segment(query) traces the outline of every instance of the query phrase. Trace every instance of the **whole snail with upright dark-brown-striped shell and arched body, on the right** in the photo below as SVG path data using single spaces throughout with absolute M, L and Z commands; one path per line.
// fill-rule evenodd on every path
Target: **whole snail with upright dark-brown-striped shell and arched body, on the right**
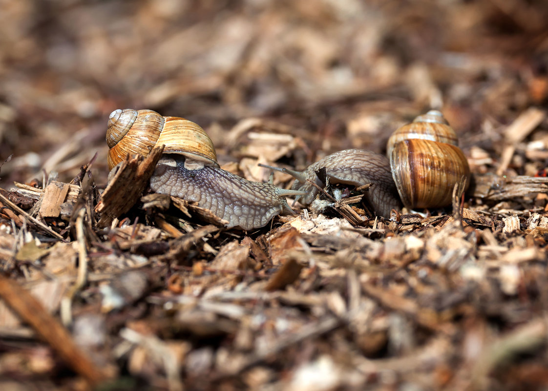
M 326 168 L 330 183 L 356 187 L 374 183 L 364 197 L 384 217 L 399 208 L 400 199 L 408 209 L 447 206 L 455 183 L 462 176 L 467 184 L 470 180 L 468 161 L 457 146 L 455 131 L 437 110 L 430 110 L 397 129 L 387 142 L 387 156 L 390 160 L 366 149 L 345 149 L 318 160 L 304 171 L 267 167 L 295 178 L 292 189 L 306 193 L 295 197 L 304 205 L 312 203 L 318 193 L 307 179 L 322 186 L 315 174 L 322 167 Z

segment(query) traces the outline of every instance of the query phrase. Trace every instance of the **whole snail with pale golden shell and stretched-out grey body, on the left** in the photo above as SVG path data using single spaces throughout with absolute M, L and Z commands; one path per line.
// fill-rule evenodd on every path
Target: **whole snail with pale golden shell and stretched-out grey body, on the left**
M 273 216 L 293 214 L 285 197 L 305 194 L 222 170 L 212 140 L 185 118 L 162 117 L 152 110 L 118 109 L 110 114 L 106 141 L 109 169 L 128 153 L 146 156 L 152 147 L 164 145 L 150 179 L 152 190 L 197 202 L 228 221 L 228 228 L 258 228 Z

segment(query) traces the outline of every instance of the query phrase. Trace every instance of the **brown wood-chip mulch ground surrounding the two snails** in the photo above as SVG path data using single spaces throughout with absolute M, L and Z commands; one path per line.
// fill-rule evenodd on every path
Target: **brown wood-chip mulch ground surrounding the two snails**
M 1 389 L 546 389 L 546 2 L 0 4 Z M 150 191 L 161 151 L 107 182 L 129 107 L 254 181 L 440 108 L 472 184 L 226 229 Z

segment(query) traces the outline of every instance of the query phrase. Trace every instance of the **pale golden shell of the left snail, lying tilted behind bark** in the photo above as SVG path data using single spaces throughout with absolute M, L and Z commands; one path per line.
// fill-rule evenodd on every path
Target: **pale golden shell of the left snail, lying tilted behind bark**
M 198 124 L 180 117 L 162 117 L 152 110 L 115 110 L 110 114 L 106 135 L 109 169 L 125 156 L 146 156 L 164 145 L 164 153 L 185 156 L 187 169 L 219 167 L 213 142 Z

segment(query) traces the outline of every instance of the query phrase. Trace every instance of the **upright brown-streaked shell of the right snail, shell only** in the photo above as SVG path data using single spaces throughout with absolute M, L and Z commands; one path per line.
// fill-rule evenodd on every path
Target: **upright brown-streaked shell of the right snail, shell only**
M 455 131 L 442 113 L 431 110 L 390 136 L 387 154 L 392 178 L 407 208 L 437 208 L 451 203 L 453 187 L 470 168 Z

